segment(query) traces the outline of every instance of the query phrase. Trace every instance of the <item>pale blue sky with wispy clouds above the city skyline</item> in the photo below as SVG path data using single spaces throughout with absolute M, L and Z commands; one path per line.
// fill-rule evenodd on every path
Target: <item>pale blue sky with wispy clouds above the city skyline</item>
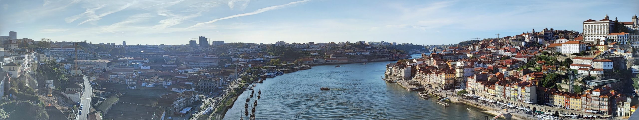
M 185 45 L 389 41 L 440 45 L 582 22 L 630 22 L 639 1 L 0 0 L 0 35 L 91 43 Z M 194 39 L 196 40 L 196 39 Z

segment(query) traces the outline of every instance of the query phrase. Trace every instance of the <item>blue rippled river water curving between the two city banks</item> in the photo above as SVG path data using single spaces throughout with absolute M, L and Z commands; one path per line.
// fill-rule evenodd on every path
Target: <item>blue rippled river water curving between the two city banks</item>
M 420 57 L 419 54 L 412 55 Z M 482 120 L 479 109 L 450 104 L 443 107 L 433 99 L 424 100 L 417 93 L 397 84 L 387 84 L 381 77 L 385 65 L 393 61 L 315 66 L 268 78 L 258 84 L 262 91 L 256 107 L 256 119 L 454 119 Z M 320 87 L 330 87 L 321 91 Z M 244 116 L 244 104 L 250 91 L 240 95 L 224 119 Z M 249 107 L 249 112 L 250 112 Z M 466 110 L 470 108 L 471 110 Z M 246 118 L 245 118 L 246 119 Z

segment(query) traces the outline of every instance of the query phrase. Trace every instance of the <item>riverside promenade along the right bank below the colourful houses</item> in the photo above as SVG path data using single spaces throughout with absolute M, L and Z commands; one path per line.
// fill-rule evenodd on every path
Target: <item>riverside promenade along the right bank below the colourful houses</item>
M 410 84 L 408 82 L 409 80 L 399 80 L 396 83 L 399 84 L 399 86 L 404 87 L 405 89 L 411 88 L 411 87 L 420 87 L 420 86 L 415 86 L 413 84 Z M 539 115 L 539 113 L 535 113 L 533 112 L 532 114 L 527 114 L 525 111 L 523 110 L 518 110 L 518 109 L 504 109 L 504 107 L 500 107 L 498 106 L 498 104 L 496 103 L 482 103 L 480 101 L 477 100 L 466 100 L 464 98 L 461 98 L 459 96 L 457 96 L 457 93 L 455 93 L 454 91 L 450 91 L 450 90 L 444 90 L 444 91 L 437 91 L 431 87 L 427 87 L 424 86 L 426 88 L 426 91 L 429 92 L 429 95 L 431 95 L 433 98 L 439 98 L 439 97 L 444 97 L 444 98 L 449 98 L 445 101 L 449 101 L 450 103 L 454 103 L 457 105 L 468 105 L 470 107 L 475 107 L 477 109 L 482 109 L 484 111 L 484 113 L 486 114 L 491 114 L 493 116 L 497 116 L 499 114 L 511 114 L 512 115 L 512 119 L 518 119 L 518 120 L 537 120 L 537 119 L 541 119 L 539 117 L 536 117 L 537 115 Z M 504 118 L 505 117 L 501 117 Z M 562 118 L 562 119 L 571 119 L 571 118 Z M 583 119 L 583 118 L 581 118 Z M 618 117 L 617 119 L 620 119 L 620 117 Z M 603 120 L 603 119 L 602 119 Z

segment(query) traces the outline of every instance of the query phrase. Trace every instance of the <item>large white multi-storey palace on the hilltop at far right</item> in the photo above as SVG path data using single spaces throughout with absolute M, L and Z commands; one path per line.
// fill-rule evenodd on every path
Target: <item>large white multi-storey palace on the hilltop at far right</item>
M 602 36 L 612 33 L 615 28 L 615 21 L 610 20 L 608 15 L 601 20 L 586 20 L 583 22 L 583 41 L 595 41 Z

